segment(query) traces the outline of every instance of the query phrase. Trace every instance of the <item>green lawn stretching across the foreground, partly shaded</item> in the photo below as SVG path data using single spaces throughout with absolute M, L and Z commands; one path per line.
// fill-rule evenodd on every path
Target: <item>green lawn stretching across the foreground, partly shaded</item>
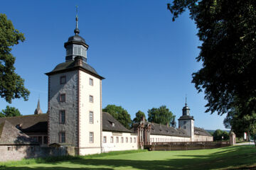
M 103 157 L 76 157 L 73 160 L 60 162 L 18 164 L 19 162 L 17 166 L 3 164 L 0 169 L 256 169 L 256 148 L 254 145 L 242 145 L 193 151 L 155 151 Z

